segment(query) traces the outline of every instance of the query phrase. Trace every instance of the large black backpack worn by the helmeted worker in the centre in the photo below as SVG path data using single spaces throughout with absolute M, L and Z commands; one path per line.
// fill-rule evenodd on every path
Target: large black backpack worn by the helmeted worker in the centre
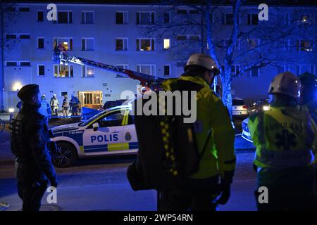
M 193 82 L 177 79 L 172 83 L 170 91 L 198 91 L 204 86 Z M 190 95 L 189 95 L 190 96 Z M 157 98 L 159 99 L 159 98 Z M 138 98 L 142 105 L 147 99 Z M 166 99 L 165 99 L 166 101 Z M 189 101 L 190 103 L 190 101 Z M 159 108 L 159 101 L 157 102 Z M 173 108 L 175 109 L 175 99 Z M 128 180 L 132 188 L 161 190 L 168 186 L 180 184 L 199 169 L 199 162 L 206 150 L 209 133 L 204 148 L 199 153 L 195 139 L 195 123 L 185 123 L 184 115 L 137 115 L 134 113 L 134 122 L 139 142 L 138 159 L 128 169 Z M 133 167 L 133 168 L 132 168 Z M 135 170 L 138 169 L 138 172 Z M 131 179 L 129 171 L 134 171 L 139 179 Z M 143 184 L 133 184 L 133 181 L 142 181 Z M 140 190 L 141 188 L 137 189 Z M 136 190 L 135 190 L 136 191 Z

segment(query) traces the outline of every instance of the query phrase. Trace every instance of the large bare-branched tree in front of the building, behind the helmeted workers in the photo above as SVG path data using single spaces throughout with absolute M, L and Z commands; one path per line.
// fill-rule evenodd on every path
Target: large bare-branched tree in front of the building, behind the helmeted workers
M 161 1 L 156 23 L 142 28 L 142 33 L 157 37 L 176 37 L 169 53 L 174 59 L 184 60 L 191 53 L 209 54 L 220 68 L 223 103 L 232 112 L 232 79 L 267 65 L 290 64 L 302 59 L 299 51 L 309 51 L 305 60 L 316 62 L 313 49 L 316 26 L 299 8 L 288 17 L 285 8 L 275 1 L 269 6 L 268 21 L 259 21 L 259 4 L 246 0 Z M 225 5 L 223 5 L 225 4 Z M 166 15 L 169 21 L 164 21 Z M 307 14 L 309 15 L 309 13 Z M 242 24 L 242 19 L 247 25 Z M 168 23 L 164 23 L 168 22 Z M 224 27 L 224 25 L 226 25 Z M 181 34 L 197 34 L 185 37 Z M 299 40 L 306 41 L 299 41 Z M 309 55 L 309 56 L 308 56 Z M 240 65 L 237 69 L 236 65 Z M 234 68 L 234 70 L 232 70 Z

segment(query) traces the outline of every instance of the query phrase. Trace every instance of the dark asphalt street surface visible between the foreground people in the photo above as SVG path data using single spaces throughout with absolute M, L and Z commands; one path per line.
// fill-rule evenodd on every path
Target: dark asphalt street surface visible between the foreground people
M 239 124 L 236 123 L 236 127 Z M 9 139 L 6 129 L 0 135 L 0 203 L 8 203 L 11 207 L 7 210 L 15 211 L 20 210 L 22 201 L 14 179 Z M 256 210 L 253 146 L 237 134 L 235 149 L 237 169 L 232 195 L 219 210 Z M 42 210 L 156 210 L 156 191 L 133 191 L 126 179 L 126 169 L 135 159 L 135 155 L 85 158 L 78 160 L 75 167 L 56 169 L 59 181 L 57 203 L 49 205 L 46 193 Z

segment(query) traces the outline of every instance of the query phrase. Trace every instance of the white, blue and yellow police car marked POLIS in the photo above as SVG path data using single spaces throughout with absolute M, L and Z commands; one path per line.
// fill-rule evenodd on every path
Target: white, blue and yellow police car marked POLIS
M 120 105 L 102 111 L 85 122 L 52 129 L 58 147 L 52 161 L 70 167 L 77 158 L 137 153 L 138 142 L 131 107 Z

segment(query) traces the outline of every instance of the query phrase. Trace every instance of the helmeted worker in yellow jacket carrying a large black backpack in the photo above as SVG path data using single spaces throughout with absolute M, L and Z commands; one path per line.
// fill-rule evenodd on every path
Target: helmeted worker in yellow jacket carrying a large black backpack
M 230 198 L 230 184 L 235 170 L 235 132 L 223 102 L 210 86 L 218 74 L 216 63 L 209 56 L 193 54 L 178 79 L 167 79 L 162 86 L 171 90 L 181 81 L 188 90 L 197 91 L 196 136 L 201 157 L 199 170 L 184 185 L 161 192 L 161 210 L 216 210 L 215 203 L 225 204 Z M 209 135 L 209 131 L 211 135 Z M 219 183 L 220 178 L 220 183 Z M 217 201 L 217 196 L 220 198 Z

